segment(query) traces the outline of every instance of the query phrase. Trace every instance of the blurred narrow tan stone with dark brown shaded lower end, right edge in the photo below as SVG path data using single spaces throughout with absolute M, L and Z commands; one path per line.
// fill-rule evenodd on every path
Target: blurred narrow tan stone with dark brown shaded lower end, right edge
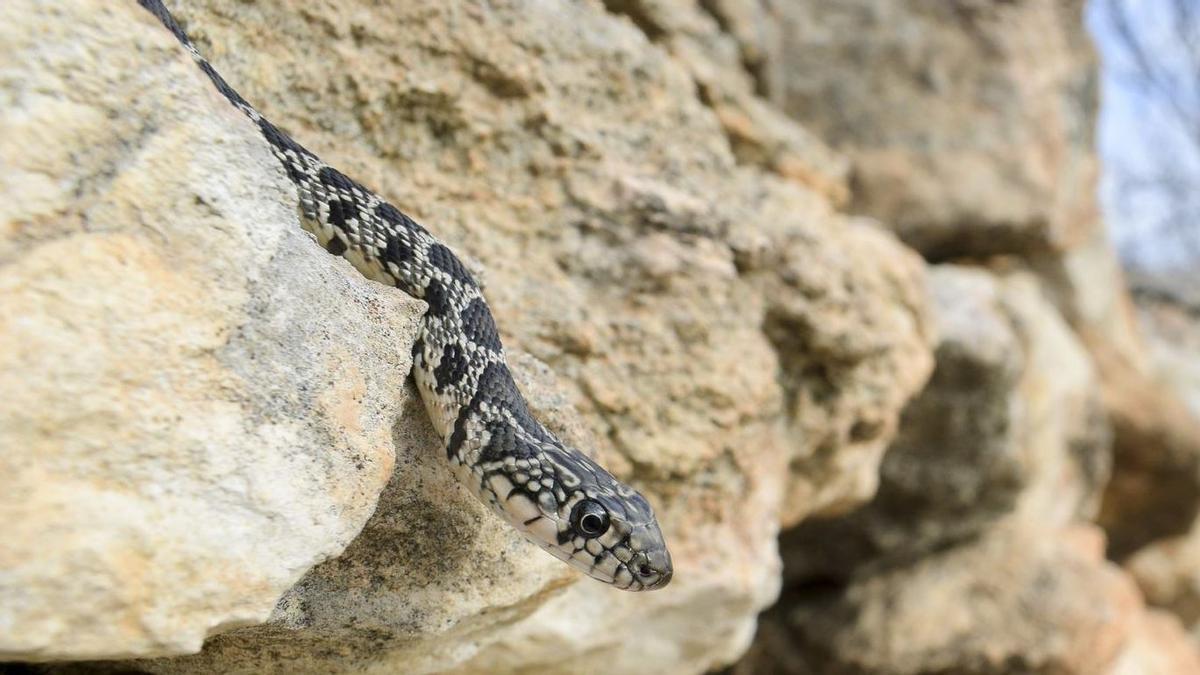
M 1110 556 L 1123 558 L 1157 538 L 1183 534 L 1200 512 L 1200 419 L 1186 392 L 1170 383 L 1187 377 L 1189 357 L 1166 368 L 1154 363 L 1152 325 L 1139 325 L 1104 232 L 1031 263 L 1099 376 L 1114 431 L 1112 480 L 1099 515 Z

